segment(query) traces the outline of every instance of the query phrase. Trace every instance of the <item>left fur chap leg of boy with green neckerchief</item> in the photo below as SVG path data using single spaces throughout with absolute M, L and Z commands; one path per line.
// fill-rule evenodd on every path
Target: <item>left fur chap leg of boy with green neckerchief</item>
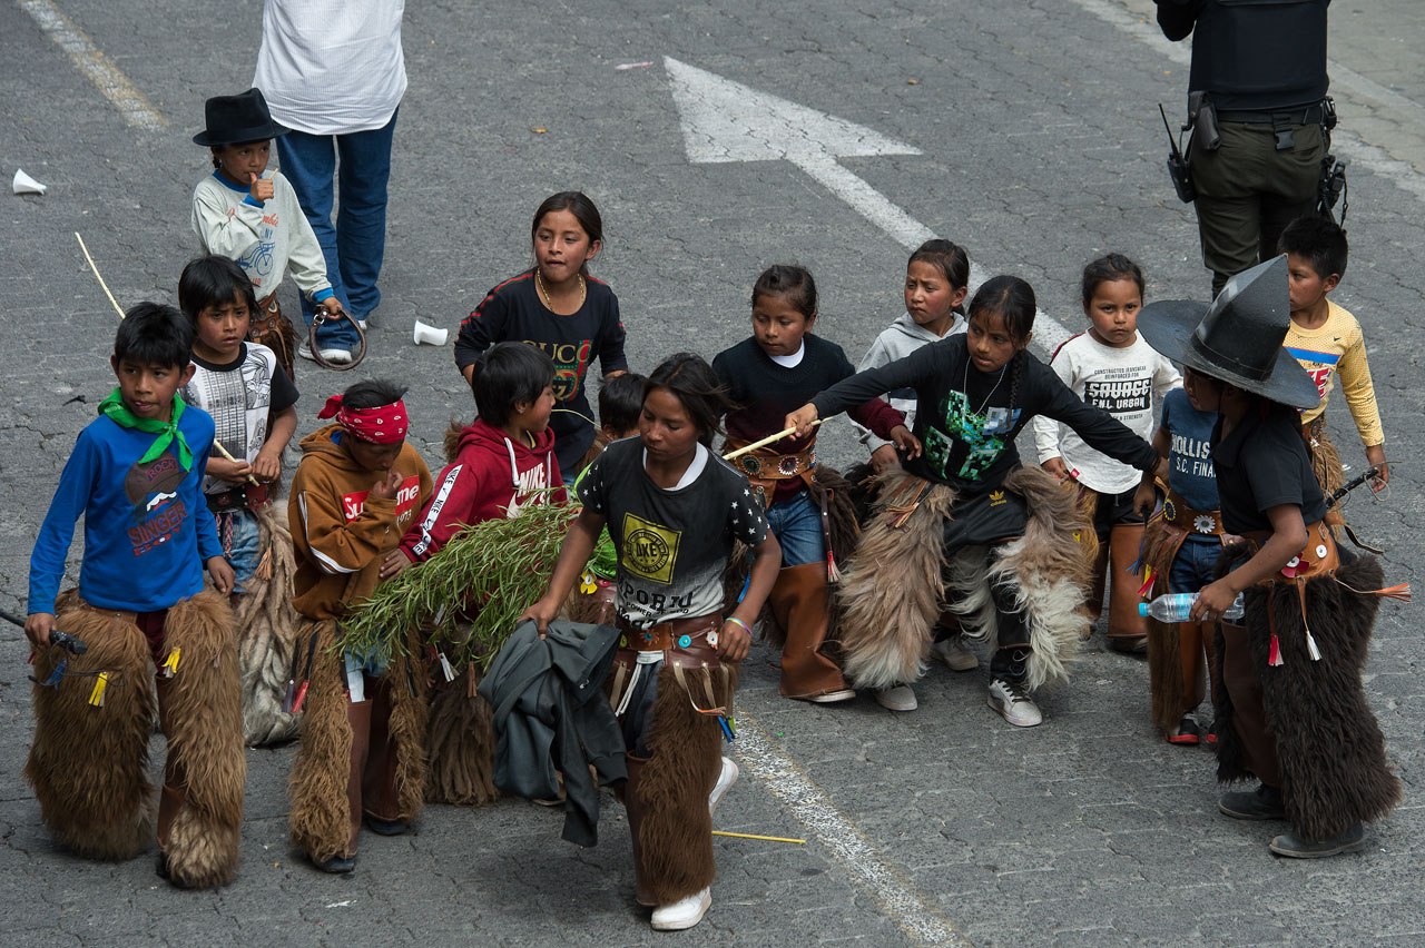
M 34 743 L 24 779 L 40 818 L 57 843 L 78 855 L 127 860 L 154 838 L 154 786 L 148 732 L 154 716 L 152 660 L 138 626 L 87 609 L 61 609 L 57 625 L 88 643 L 70 655 L 58 688 L 34 685 Z M 63 652 L 40 651 L 34 676 L 44 680 Z M 94 678 L 110 672 L 103 707 L 88 703 Z

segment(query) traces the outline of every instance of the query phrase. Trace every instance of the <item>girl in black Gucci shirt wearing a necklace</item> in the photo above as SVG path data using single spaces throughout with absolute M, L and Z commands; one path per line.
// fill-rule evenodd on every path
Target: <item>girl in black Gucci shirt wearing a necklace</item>
M 534 266 L 499 283 L 460 323 L 455 364 L 469 381 L 476 359 L 499 342 L 523 342 L 554 360 L 559 407 L 549 427 L 560 473 L 573 484 L 596 428 L 584 377 L 594 359 L 606 379 L 628 370 L 624 329 L 618 297 L 589 275 L 589 263 L 604 243 L 604 223 L 593 201 L 579 191 L 546 198 L 534 211 L 530 242 Z

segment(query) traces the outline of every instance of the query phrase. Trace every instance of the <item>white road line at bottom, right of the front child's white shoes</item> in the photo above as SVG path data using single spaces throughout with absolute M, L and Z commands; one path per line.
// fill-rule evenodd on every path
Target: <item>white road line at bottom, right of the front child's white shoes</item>
M 970 942 L 945 921 L 915 885 L 891 867 L 879 850 L 826 799 L 801 767 L 784 754 L 772 739 L 741 707 L 737 709 L 737 759 L 802 821 L 802 824 L 856 877 L 881 910 L 918 945 Z

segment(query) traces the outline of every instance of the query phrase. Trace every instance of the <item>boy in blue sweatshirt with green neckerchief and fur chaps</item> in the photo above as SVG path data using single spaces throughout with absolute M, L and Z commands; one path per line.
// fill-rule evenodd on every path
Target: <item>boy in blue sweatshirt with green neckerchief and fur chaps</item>
M 232 568 L 201 490 L 212 418 L 178 397 L 191 347 L 172 306 L 130 309 L 110 360 L 118 387 L 64 464 L 30 558 L 36 726 L 24 774 L 57 841 L 91 858 L 137 855 L 154 836 L 148 678 L 160 668 L 158 871 L 209 887 L 237 871 L 247 762 Z M 80 585 L 56 601 L 81 514 Z M 204 589 L 204 567 L 217 592 Z M 56 628 L 88 651 L 61 659 Z

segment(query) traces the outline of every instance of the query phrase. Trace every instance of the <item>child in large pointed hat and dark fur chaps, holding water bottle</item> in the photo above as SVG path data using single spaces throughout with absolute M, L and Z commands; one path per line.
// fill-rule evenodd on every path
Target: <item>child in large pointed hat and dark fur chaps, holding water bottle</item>
M 1184 369 L 1183 384 L 1216 410 L 1211 451 L 1228 547 L 1191 621 L 1217 622 L 1217 779 L 1255 777 L 1218 809 L 1238 820 L 1288 820 L 1271 841 L 1288 857 L 1365 846 L 1362 823 L 1399 801 L 1385 740 L 1361 685 L 1381 589 L 1372 557 L 1335 545 L 1327 502 L 1301 438 L 1298 409 L 1315 383 L 1281 347 L 1290 322 L 1287 260 L 1227 282 L 1211 303 L 1164 300 L 1139 315 L 1150 346 Z M 1151 504 L 1151 491 L 1139 494 Z M 1368 591 L 1368 592 L 1362 592 Z M 1241 595 L 1243 625 L 1223 619 Z

